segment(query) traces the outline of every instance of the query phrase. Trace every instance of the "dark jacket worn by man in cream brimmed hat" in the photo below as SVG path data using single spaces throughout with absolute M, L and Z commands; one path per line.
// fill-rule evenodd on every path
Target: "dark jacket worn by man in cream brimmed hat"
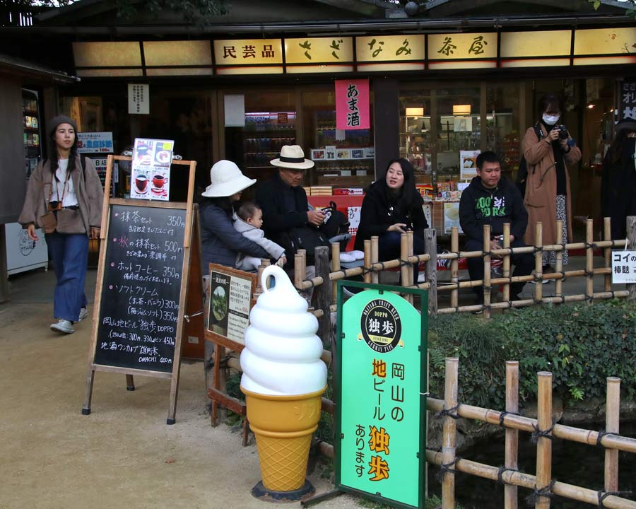
M 302 187 L 291 187 L 276 172 L 259 185 L 256 201 L 263 211 L 265 237 L 276 240 L 278 234 L 294 226 L 307 224 L 307 193 Z

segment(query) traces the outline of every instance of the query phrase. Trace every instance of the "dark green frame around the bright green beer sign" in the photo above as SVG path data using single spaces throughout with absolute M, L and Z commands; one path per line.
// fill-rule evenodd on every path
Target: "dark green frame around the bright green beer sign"
M 365 290 L 377 290 L 380 295 L 385 292 L 392 293 L 409 293 L 412 295 L 420 296 L 420 301 L 423 308 L 420 309 L 420 423 L 419 423 L 419 443 L 418 447 L 418 505 L 408 505 L 406 503 L 396 501 L 391 498 L 385 498 L 380 495 L 379 490 L 375 493 L 367 491 L 361 491 L 358 488 L 351 486 L 345 486 L 341 482 L 341 425 L 342 425 L 342 341 L 343 338 L 343 287 L 356 287 L 364 288 Z M 360 295 L 360 294 L 358 294 Z M 334 373 L 334 394 L 336 402 L 336 421 L 335 421 L 335 440 L 334 440 L 334 454 L 335 462 L 334 468 L 336 471 L 336 489 L 340 491 L 347 491 L 349 493 L 358 493 L 358 495 L 365 498 L 370 498 L 378 503 L 391 505 L 401 509 L 423 509 L 425 506 L 425 493 L 426 493 L 426 394 L 428 394 L 428 291 L 420 288 L 404 288 L 402 286 L 389 286 L 372 283 L 363 283 L 360 281 L 338 281 L 337 288 L 337 357 L 336 357 L 336 370 Z

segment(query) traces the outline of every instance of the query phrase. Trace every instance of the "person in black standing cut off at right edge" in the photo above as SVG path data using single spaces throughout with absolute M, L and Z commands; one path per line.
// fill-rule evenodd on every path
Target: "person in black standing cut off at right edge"
M 625 118 L 603 160 L 601 213 L 611 218 L 614 240 L 627 235 L 627 217 L 636 216 L 636 119 Z

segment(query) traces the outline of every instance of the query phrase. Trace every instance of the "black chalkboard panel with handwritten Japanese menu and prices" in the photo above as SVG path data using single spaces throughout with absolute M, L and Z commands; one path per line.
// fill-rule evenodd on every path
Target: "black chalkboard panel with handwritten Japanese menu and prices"
M 184 209 L 112 205 L 95 364 L 172 372 Z

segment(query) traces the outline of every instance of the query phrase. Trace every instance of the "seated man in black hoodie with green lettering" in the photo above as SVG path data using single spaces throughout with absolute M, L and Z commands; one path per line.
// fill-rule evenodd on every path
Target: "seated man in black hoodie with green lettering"
M 500 235 L 504 223 L 510 223 L 510 246 L 524 246 L 523 238 L 528 226 L 528 213 L 524 208 L 524 199 L 517 187 L 501 178 L 501 163 L 496 153 L 486 151 L 477 157 L 477 176 L 473 177 L 469 187 L 461 193 L 459 201 L 459 223 L 466 235 L 466 251 L 483 249 L 483 226 L 490 225 L 490 250 L 501 249 Z M 531 253 L 513 254 L 512 276 L 527 276 L 534 267 Z M 483 259 L 469 258 L 471 280 L 483 279 Z M 510 296 L 519 299 L 524 283 L 512 283 Z M 478 301 L 483 291 L 473 287 Z

